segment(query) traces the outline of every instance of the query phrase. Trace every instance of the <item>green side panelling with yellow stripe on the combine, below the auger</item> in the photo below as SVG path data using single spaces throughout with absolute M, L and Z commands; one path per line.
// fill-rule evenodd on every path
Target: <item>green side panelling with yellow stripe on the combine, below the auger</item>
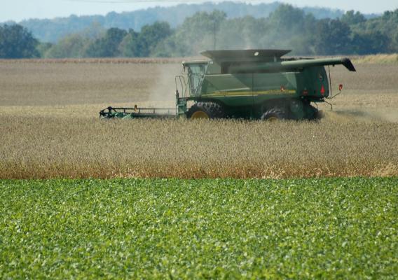
M 195 90 L 190 88 L 189 92 Z M 205 74 L 200 94 L 191 99 L 220 102 L 232 111 L 248 107 L 245 111 L 250 116 L 246 117 L 259 118 L 259 107 L 270 100 L 306 98 L 323 102 L 328 96 L 329 80 L 324 67 L 312 66 L 291 72 Z

